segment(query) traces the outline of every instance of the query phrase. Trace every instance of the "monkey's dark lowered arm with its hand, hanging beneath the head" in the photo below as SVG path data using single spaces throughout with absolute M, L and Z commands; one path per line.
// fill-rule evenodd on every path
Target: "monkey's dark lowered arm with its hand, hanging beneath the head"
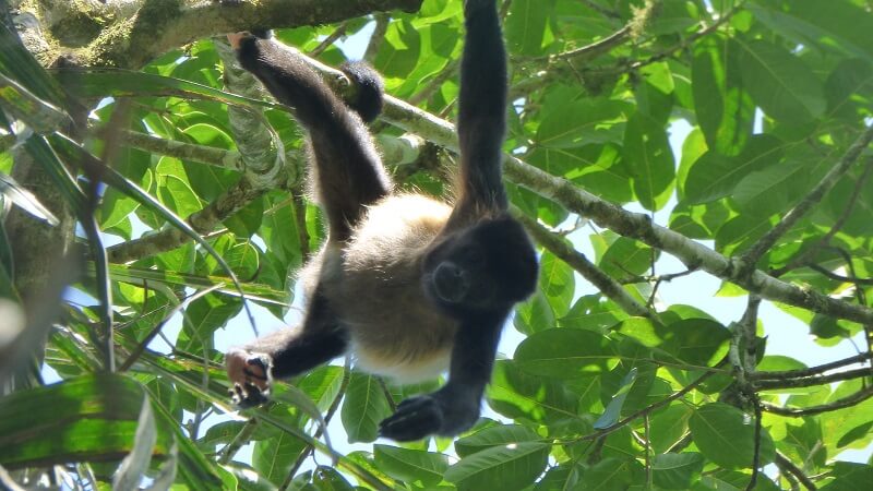
M 380 434 L 396 441 L 429 434 L 452 436 L 479 419 L 482 394 L 494 366 L 505 315 L 465 322 L 455 335 L 449 382 L 439 391 L 406 399 L 380 423 Z

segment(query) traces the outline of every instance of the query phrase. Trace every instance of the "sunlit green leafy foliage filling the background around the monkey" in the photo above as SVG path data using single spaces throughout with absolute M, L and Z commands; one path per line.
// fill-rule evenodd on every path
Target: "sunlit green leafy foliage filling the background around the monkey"
M 372 62 L 387 92 L 451 120 L 461 5 L 426 0 L 418 13 L 277 36 L 337 65 L 345 56 L 323 45 L 325 37 L 376 24 Z M 852 359 L 809 367 L 768 355 L 768 326 L 757 318 L 762 299 L 779 299 L 778 308 L 809 325 L 797 335 L 824 347 L 873 328 L 873 314 L 861 309 L 873 295 L 869 2 L 506 5 L 507 154 L 594 203 L 667 217 L 661 225 L 681 236 L 665 241 L 619 214 L 621 227 L 596 227 L 585 238 L 574 227 L 587 218 L 576 194 L 507 182 L 517 213 L 533 218 L 542 255 L 540 288 L 513 319 L 524 340 L 497 363 L 488 391 L 500 419 L 483 418 L 454 442 L 381 442 L 343 453 L 322 442 L 320 414 L 331 420 L 339 411 L 349 441 L 369 443 L 394 404 L 421 387 L 323 367 L 280 384 L 277 402 L 243 412 L 244 420 L 225 416 L 232 408 L 216 334 L 247 328 L 243 304 L 265 309 L 258 324 L 283 319 L 295 272 L 324 238 L 319 211 L 301 193 L 300 131 L 287 110 L 226 89 L 213 40 L 139 71 L 49 73 L 4 32 L 0 193 L 11 213 L 47 227 L 57 221 L 39 190 L 11 177 L 13 160 L 26 156 L 62 190 L 89 253 L 46 345 L 45 363 L 62 382 L 19 386 L 0 399 L 0 465 L 20 480 L 33 476 L 21 469 L 59 465 L 70 487 L 115 480 L 119 489 L 143 475 L 153 489 L 869 486 L 873 467 L 839 454 L 873 442 L 870 345 Z M 74 135 L 68 122 L 82 103 L 88 128 Z M 228 107 L 263 124 L 240 133 Z M 681 154 L 669 141 L 678 121 L 691 127 Z M 386 155 L 404 134 L 398 127 L 374 125 Z M 419 128 L 423 140 L 441 141 Z M 246 149 L 259 137 L 268 157 Z M 451 148 L 417 152 L 411 161 L 388 161 L 400 185 L 443 194 L 434 158 L 451 163 Z M 256 165 L 268 179 L 251 171 Z M 0 232 L 0 312 L 34 319 L 17 291 L 28 273 L 15 268 L 16 238 Z M 593 263 L 575 250 L 583 240 L 593 244 Z M 108 255 L 104 241 L 116 243 Z M 661 251 L 699 248 L 721 255 L 655 274 Z M 732 259 L 718 263 L 723 271 L 707 263 L 721 256 Z M 748 296 L 746 311 L 716 320 L 697 306 L 656 301 L 663 282 L 698 267 L 726 280 L 723 295 Z M 749 292 L 727 283 L 746 275 L 748 288 L 763 285 L 764 272 L 799 288 L 775 297 L 769 287 Z M 600 292 L 579 296 L 576 273 Z M 808 292 L 860 313 L 806 302 Z M 0 336 L 0 354 L 22 346 L 15 343 L 24 335 L 12 340 L 10 332 Z M 171 346 L 153 343 L 157 336 Z M 0 357 L 0 375 L 8 363 Z M 97 374 L 101 368 L 117 373 Z M 237 457 L 248 442 L 251 456 Z

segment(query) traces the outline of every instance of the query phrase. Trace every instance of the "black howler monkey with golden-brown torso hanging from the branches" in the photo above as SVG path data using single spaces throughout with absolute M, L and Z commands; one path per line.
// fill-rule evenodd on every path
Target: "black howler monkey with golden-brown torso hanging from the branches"
M 357 367 L 402 382 L 449 368 L 442 388 L 404 400 L 382 421 L 382 436 L 455 435 L 478 419 L 501 328 L 514 303 L 534 291 L 538 270 L 501 182 L 507 80 L 494 3 L 464 2 L 454 206 L 393 191 L 356 113 L 373 116 L 372 104 L 352 111 L 291 51 L 252 35 L 230 36 L 242 67 L 307 128 L 312 179 L 330 224 L 327 243 L 301 274 L 302 327 L 227 354 L 240 405 L 263 402 L 268 378 L 350 351 Z M 364 98 L 375 92 L 367 70 L 357 67 L 350 77 L 364 85 Z

